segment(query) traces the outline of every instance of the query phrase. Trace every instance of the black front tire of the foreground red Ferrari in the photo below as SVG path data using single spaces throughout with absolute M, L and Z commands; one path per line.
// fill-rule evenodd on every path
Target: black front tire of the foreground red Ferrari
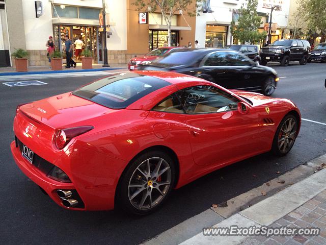
M 291 137 L 288 136 L 290 134 L 286 134 L 286 138 L 284 139 L 285 140 L 284 144 L 281 145 L 282 136 L 283 136 L 283 134 L 285 134 L 284 131 L 281 131 L 281 129 L 283 129 L 284 124 L 286 124 L 289 120 L 292 120 L 295 122 L 295 125 L 293 126 L 295 133 L 293 133 L 291 135 Z M 298 130 L 298 121 L 297 121 L 296 117 L 293 114 L 287 114 L 282 119 L 279 127 L 276 130 L 271 151 L 277 156 L 285 156 L 286 154 L 288 154 L 289 151 L 291 150 L 292 146 L 294 145 L 295 139 L 297 137 L 297 130 Z M 288 140 L 287 141 L 288 148 L 286 148 L 286 140 Z M 279 144 L 279 141 L 280 141 L 280 144 Z M 289 144 L 290 141 L 291 141 L 291 144 Z M 285 148 L 285 149 L 281 150 L 282 148 Z

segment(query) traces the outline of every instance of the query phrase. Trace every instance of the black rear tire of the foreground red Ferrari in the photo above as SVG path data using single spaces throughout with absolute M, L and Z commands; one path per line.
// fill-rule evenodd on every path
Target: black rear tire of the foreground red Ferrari
M 162 174 L 161 178 L 164 179 L 165 176 L 164 175 L 169 175 L 170 174 L 170 178 L 171 178 L 171 184 L 170 185 L 165 185 L 162 187 L 164 187 L 164 189 L 160 189 L 161 193 L 163 193 L 164 195 L 161 195 L 158 191 L 157 188 L 159 188 L 160 185 L 158 185 L 156 187 L 156 183 L 163 183 L 160 182 L 161 180 L 158 180 L 158 178 L 156 179 L 156 182 L 154 179 L 150 179 L 148 178 L 145 181 L 145 176 L 141 174 L 141 172 L 138 170 L 139 167 L 142 168 L 142 164 L 147 164 L 147 160 L 151 159 L 149 162 L 152 161 L 152 163 L 157 160 L 159 161 L 159 159 L 163 159 L 164 162 L 162 164 L 168 164 L 168 165 L 162 165 L 162 166 L 169 166 L 170 167 L 170 173 L 168 172 L 168 170 L 166 172 L 164 172 L 164 174 Z M 152 164 L 150 163 L 150 164 Z M 158 162 L 157 162 L 158 165 Z M 156 165 L 156 166 L 157 166 Z M 154 168 L 155 164 L 150 165 L 150 173 L 152 170 L 155 170 Z M 142 168 L 143 169 L 143 168 Z M 160 171 L 160 168 L 157 170 L 157 172 Z M 168 155 L 165 152 L 162 151 L 149 151 L 149 152 L 145 152 L 144 154 L 141 154 L 140 156 L 136 157 L 135 159 L 133 159 L 129 165 L 127 166 L 126 170 L 124 171 L 123 175 L 121 176 L 121 179 L 119 181 L 119 186 L 117 188 L 117 193 L 116 193 L 116 198 L 117 198 L 117 203 L 119 205 L 121 205 L 121 208 L 124 209 L 125 211 L 127 211 L 128 213 L 131 214 L 136 214 L 136 215 L 146 215 L 146 214 L 150 214 L 154 211 L 156 211 L 167 199 L 167 197 L 169 196 L 171 189 L 174 185 L 174 181 L 175 181 L 175 163 L 172 159 L 172 157 L 170 157 L 170 155 Z M 143 171 L 143 174 L 148 174 L 146 172 L 146 169 Z M 137 177 L 134 179 L 134 177 Z M 160 177 L 159 177 L 160 178 Z M 152 181 L 152 184 L 149 185 L 149 179 Z M 140 183 L 140 185 L 144 185 L 143 183 L 145 183 L 145 185 L 143 187 L 130 187 L 129 184 L 131 185 L 131 182 L 134 181 L 138 181 Z M 144 182 L 145 181 L 145 182 Z M 136 183 L 137 185 L 138 183 Z M 155 187 L 153 187 L 155 186 Z M 129 188 L 130 188 L 130 192 L 129 192 Z M 139 188 L 139 189 L 136 189 Z M 143 189 L 143 190 L 141 190 Z M 148 194 L 150 191 L 150 198 L 149 196 L 147 196 L 146 194 Z M 148 208 L 144 208 L 145 203 L 149 203 L 152 201 L 152 191 L 153 191 L 153 196 L 154 194 L 157 196 L 161 196 L 161 198 L 159 199 L 159 197 L 156 199 L 159 201 L 157 203 L 155 203 L 154 205 L 148 204 Z M 135 197 L 132 199 L 132 196 L 136 193 L 139 192 L 139 194 L 135 195 Z M 131 197 L 130 197 L 131 195 Z M 144 198 L 146 196 L 146 198 Z M 130 200 L 129 200 L 130 197 Z M 139 203 L 141 203 L 142 199 L 144 198 L 145 203 L 142 205 L 142 208 L 139 204 L 139 207 L 136 208 L 135 206 L 137 206 L 137 200 L 140 200 Z M 155 201 L 156 201 L 155 200 Z M 152 206 L 153 205 L 153 206 Z

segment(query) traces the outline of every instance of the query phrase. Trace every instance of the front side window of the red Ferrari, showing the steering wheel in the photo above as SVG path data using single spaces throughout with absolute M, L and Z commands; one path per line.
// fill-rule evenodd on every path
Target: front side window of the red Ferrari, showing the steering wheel
M 177 94 L 187 114 L 236 110 L 239 102 L 231 94 L 209 85 L 184 88 Z

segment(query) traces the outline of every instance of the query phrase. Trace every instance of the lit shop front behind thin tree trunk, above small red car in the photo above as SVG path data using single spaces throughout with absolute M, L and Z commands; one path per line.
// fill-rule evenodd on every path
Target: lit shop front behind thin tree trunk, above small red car
M 171 31 L 171 46 L 179 45 L 179 31 Z M 149 30 L 148 31 L 148 50 L 158 47 L 168 46 L 168 31 Z

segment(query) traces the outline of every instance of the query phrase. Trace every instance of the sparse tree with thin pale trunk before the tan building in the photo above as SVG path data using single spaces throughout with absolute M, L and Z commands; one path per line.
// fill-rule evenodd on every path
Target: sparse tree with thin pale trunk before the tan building
M 195 2 L 195 8 L 189 9 Z M 138 11 L 149 11 L 155 12 L 160 10 L 161 14 L 167 23 L 168 27 L 168 46 L 171 46 L 171 23 L 172 15 L 175 13 L 182 13 L 182 11 L 187 11 L 189 16 L 195 16 L 199 14 L 199 5 L 202 3 L 202 0 L 135 0 L 133 3 L 135 6 L 138 6 Z

